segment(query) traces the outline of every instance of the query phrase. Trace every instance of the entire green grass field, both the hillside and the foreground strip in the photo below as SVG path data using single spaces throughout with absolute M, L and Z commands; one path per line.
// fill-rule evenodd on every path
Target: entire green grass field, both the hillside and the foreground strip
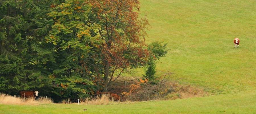
M 158 62 L 157 75 L 173 72 L 171 80 L 212 95 L 113 105 L 0 105 L 0 114 L 256 114 L 255 0 L 141 0 L 145 16 L 151 25 L 147 43 L 163 41 L 170 49 Z M 239 48 L 233 48 L 235 37 L 241 41 Z

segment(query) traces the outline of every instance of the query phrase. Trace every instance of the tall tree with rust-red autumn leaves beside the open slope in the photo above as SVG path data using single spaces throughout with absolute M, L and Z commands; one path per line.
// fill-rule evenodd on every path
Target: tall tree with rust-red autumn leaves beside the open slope
M 104 90 L 129 68 L 145 63 L 149 52 L 145 47 L 146 19 L 138 19 L 138 0 L 89 0 L 92 5 L 91 35 L 100 38 Z M 134 10 L 136 9 L 136 10 Z

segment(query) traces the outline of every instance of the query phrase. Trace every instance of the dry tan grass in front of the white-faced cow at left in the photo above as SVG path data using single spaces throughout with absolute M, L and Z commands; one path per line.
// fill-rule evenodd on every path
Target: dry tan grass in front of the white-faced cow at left
M 39 97 L 37 100 L 35 100 L 34 98 L 23 99 L 20 97 L 14 97 L 6 94 L 0 95 L 0 104 L 40 105 L 51 103 L 53 103 L 53 101 L 45 97 Z

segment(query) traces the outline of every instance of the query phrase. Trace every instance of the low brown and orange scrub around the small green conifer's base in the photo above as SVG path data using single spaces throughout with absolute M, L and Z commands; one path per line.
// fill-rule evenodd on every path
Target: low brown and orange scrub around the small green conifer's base
M 137 84 L 131 84 L 129 92 L 122 93 L 122 101 L 147 101 L 156 99 L 182 99 L 188 97 L 205 96 L 208 93 L 200 88 L 190 85 L 179 85 L 177 82 L 169 81 L 167 73 L 160 78 L 156 84 L 150 84 L 147 79 L 139 79 Z

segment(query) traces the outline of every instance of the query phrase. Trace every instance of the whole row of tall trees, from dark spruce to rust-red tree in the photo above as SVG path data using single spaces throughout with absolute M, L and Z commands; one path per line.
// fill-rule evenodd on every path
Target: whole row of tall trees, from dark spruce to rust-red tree
M 1 0 L 0 12 L 0 92 L 87 97 L 155 59 L 138 0 Z

